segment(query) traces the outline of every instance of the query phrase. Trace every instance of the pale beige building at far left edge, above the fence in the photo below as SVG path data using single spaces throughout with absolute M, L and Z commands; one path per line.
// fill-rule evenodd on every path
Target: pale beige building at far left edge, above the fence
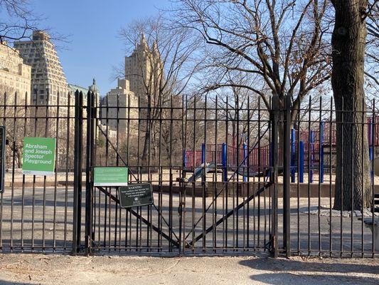
M 6 43 L 0 43 L 0 93 L 0 105 L 26 105 L 31 101 L 31 66 L 24 64 L 18 51 Z

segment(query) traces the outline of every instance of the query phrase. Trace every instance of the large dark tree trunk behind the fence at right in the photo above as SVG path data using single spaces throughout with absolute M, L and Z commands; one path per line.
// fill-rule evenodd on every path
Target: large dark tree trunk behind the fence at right
M 362 209 L 372 201 L 367 119 L 362 113 L 367 0 L 332 3 L 336 10 L 331 79 L 337 122 L 334 209 Z

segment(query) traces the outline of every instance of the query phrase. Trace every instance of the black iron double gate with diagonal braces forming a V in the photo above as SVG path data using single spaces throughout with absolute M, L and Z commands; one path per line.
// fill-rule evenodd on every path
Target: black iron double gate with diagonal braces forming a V
M 75 97 L 80 98 L 80 93 Z M 277 156 L 256 150 L 264 140 L 271 148 L 269 137 L 276 131 L 275 125 L 267 113 L 255 113 L 246 102 L 234 102 L 235 108 L 230 108 L 230 103 L 220 106 L 217 99 L 213 106 L 208 106 L 207 100 L 171 97 L 166 105 L 133 107 L 122 105 L 117 99 L 103 102 L 105 107 L 99 108 L 93 94 L 87 95 L 86 115 L 83 117 L 77 108 L 75 135 L 75 157 L 86 158 L 83 244 L 87 254 L 274 249 L 273 225 L 277 220 L 272 203 L 277 199 L 277 173 L 269 160 Z M 230 118 L 232 113 L 235 118 Z M 240 113 L 248 118 L 238 118 Z M 81 118 L 84 124 L 79 121 Z M 249 132 L 246 138 L 240 136 L 239 124 Z M 260 128 L 254 140 L 250 138 L 252 124 Z M 81 125 L 86 125 L 86 135 L 80 133 Z M 232 125 L 235 133 L 230 134 Z M 86 138 L 85 144 L 82 138 Z M 218 147 L 221 141 L 224 148 L 229 148 L 223 154 Z M 196 147 L 201 145 L 203 161 L 196 165 Z M 225 161 L 220 161 L 220 155 Z M 94 187 L 96 166 L 129 167 L 131 183 L 151 182 L 154 204 L 121 209 L 117 187 Z M 81 177 L 80 167 L 78 161 L 75 177 Z M 74 251 L 80 250 L 82 244 L 81 183 L 75 180 L 74 204 L 78 211 L 74 213 L 74 228 L 78 230 L 76 237 L 74 232 Z

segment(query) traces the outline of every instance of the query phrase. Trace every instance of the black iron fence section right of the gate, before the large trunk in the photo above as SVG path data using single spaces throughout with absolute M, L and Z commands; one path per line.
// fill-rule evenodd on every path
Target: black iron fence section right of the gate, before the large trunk
M 375 100 L 368 107 L 365 100 L 342 101 L 339 109 L 333 99 L 328 108 L 322 98 L 319 105 L 312 103 L 309 98 L 293 109 L 289 101 L 279 110 L 284 128 L 279 251 L 282 248 L 287 256 L 375 257 L 379 249 Z M 294 140 L 292 128 L 307 135 Z M 319 133 L 318 141 L 313 133 Z M 305 146 L 311 151 L 302 152 Z

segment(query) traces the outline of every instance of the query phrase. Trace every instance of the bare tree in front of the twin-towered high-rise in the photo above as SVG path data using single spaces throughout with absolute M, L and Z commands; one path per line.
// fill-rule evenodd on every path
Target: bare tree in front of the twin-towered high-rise
M 181 102 L 181 96 L 188 90 L 191 78 L 198 71 L 195 58 L 199 41 L 196 41 L 197 36 L 192 30 L 173 29 L 162 16 L 134 21 L 120 34 L 127 48 L 136 51 L 138 58 L 137 73 L 124 73 L 122 76 L 132 77 L 136 81 L 139 78 L 142 82 L 140 94 L 137 95 L 140 98 L 139 116 L 144 130 L 142 161 L 146 162 L 147 155 L 156 157 L 158 153 L 158 134 L 162 125 L 157 122 L 162 115 L 167 115 L 162 108 L 171 105 L 173 100 Z M 142 46 L 145 47 L 141 51 Z M 172 143 L 168 139 L 165 138 L 165 143 Z

